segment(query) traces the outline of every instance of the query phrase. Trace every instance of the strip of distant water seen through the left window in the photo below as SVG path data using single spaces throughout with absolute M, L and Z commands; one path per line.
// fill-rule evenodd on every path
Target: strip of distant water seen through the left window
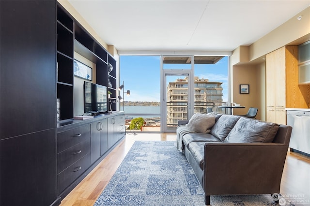
M 123 107 L 121 106 L 121 110 Z M 151 116 L 130 116 L 127 114 L 147 114 L 147 113 L 152 113 L 152 114 L 160 114 L 160 106 L 124 106 L 125 110 L 125 116 L 127 117 L 132 117 L 132 118 L 155 118 L 159 117 L 160 115 L 151 115 Z

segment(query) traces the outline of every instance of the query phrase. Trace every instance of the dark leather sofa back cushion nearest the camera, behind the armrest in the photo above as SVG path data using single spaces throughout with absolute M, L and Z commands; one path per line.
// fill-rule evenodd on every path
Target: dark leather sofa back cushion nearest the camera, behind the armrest
M 279 129 L 279 125 L 252 118 L 241 117 L 224 142 L 272 142 Z

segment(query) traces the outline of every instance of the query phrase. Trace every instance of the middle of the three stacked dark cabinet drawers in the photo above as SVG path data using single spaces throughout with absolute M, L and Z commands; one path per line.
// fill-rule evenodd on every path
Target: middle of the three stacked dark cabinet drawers
M 81 157 L 84 157 L 91 150 L 90 139 L 78 143 L 57 155 L 57 174 L 65 168 L 77 162 Z

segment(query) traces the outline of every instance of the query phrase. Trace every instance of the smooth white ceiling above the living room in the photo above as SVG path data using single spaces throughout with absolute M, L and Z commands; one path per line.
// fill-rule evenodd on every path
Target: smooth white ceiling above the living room
M 310 0 L 69 0 L 119 51 L 232 51 L 250 45 Z

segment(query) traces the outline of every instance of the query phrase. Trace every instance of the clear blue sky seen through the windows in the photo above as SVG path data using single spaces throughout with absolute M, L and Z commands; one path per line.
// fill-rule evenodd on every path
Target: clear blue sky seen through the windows
M 121 56 L 120 69 L 124 91 L 130 90 L 130 97 L 125 95 L 125 101 L 160 102 L 160 56 Z M 216 64 L 195 64 L 194 70 L 199 78 L 223 82 L 223 101 L 227 101 L 228 57 Z

